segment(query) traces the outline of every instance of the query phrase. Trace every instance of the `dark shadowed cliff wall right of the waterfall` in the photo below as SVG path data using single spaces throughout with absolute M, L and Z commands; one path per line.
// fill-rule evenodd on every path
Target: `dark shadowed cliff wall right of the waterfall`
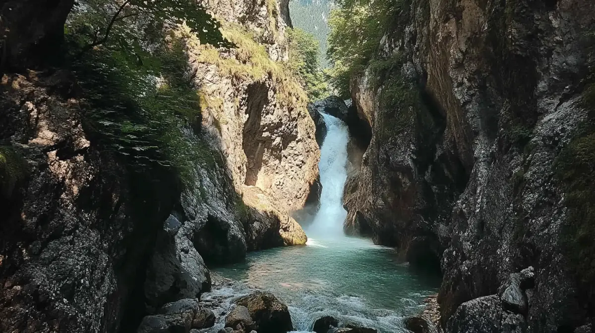
M 475 324 L 460 322 L 466 314 L 500 306 L 459 305 L 504 297 L 509 275 L 529 266 L 535 287 L 519 290 L 528 306 L 511 319 L 519 329 L 572 331 L 593 317 L 592 294 L 569 263 L 565 230 L 574 222 L 554 167 L 587 119 L 583 31 L 594 28 L 593 6 L 411 1 L 379 56 L 400 55 L 392 75 L 417 91 L 417 103 L 386 107 L 380 91 L 389 81 L 372 86 L 369 70 L 352 81 L 373 135 L 346 183 L 346 230 L 369 227 L 409 261 L 440 265 L 450 331 L 471 332 Z M 481 316 L 502 331 L 502 312 L 494 311 Z

